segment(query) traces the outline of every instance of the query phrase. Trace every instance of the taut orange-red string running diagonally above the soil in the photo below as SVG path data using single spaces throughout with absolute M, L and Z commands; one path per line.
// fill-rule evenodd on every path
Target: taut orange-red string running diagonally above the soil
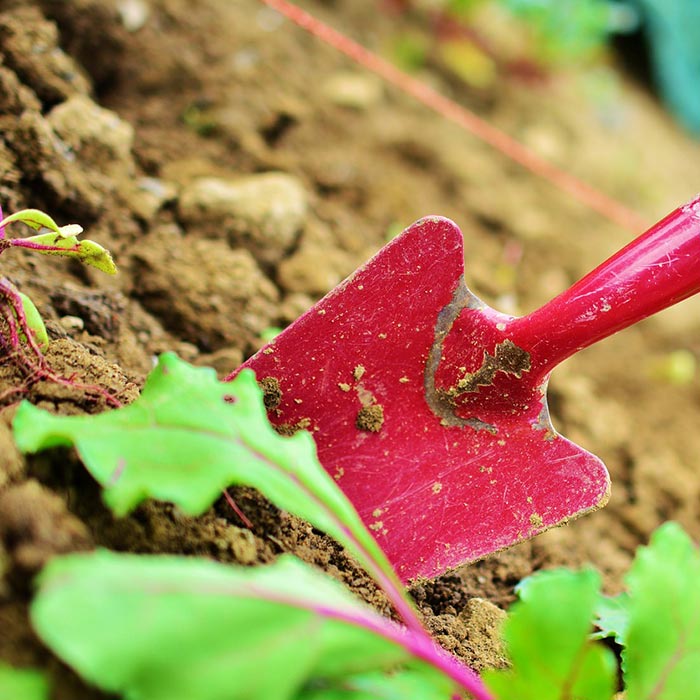
M 408 73 L 398 69 L 300 7 L 288 2 L 288 0 L 261 0 L 261 2 L 321 41 L 344 53 L 367 70 L 376 73 L 388 83 L 411 95 L 433 111 L 466 129 L 473 136 L 519 163 L 525 169 L 548 180 L 555 187 L 568 193 L 609 221 L 634 233 L 648 228 L 647 222 L 625 205 L 579 180 L 571 173 L 561 170 L 454 100 L 441 95 L 430 86 L 411 77 Z

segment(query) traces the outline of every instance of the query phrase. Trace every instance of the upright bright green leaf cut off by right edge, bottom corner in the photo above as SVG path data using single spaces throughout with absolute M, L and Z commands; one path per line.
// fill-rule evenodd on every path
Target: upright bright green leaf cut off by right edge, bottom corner
M 676 523 L 638 550 L 627 575 L 627 700 L 696 700 L 700 688 L 700 556 Z

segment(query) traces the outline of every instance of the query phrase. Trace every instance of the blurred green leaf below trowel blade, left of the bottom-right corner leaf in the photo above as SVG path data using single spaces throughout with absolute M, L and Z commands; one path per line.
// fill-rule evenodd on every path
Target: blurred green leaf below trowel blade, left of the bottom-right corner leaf
M 498 700 L 610 700 L 612 652 L 589 638 L 599 600 L 593 570 L 541 572 L 521 587 L 503 628 L 512 667 L 487 671 Z

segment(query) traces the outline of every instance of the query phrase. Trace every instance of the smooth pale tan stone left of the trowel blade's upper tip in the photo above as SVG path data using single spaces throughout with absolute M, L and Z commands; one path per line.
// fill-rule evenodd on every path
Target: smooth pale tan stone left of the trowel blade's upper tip
M 298 178 L 263 173 L 235 179 L 198 178 L 180 195 L 179 212 L 190 230 L 228 237 L 261 262 L 277 264 L 303 228 L 307 194 Z

